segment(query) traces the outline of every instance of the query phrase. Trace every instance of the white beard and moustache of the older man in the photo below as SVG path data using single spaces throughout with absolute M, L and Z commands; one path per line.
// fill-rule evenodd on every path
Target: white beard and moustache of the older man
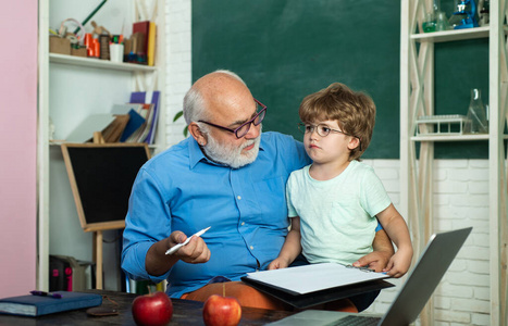
M 235 147 L 233 145 L 224 146 L 213 139 L 213 137 L 210 136 L 208 137 L 208 143 L 207 146 L 202 147 L 205 154 L 210 158 L 212 161 L 225 164 L 230 167 L 233 168 L 238 168 L 244 165 L 250 164 L 253 161 L 256 161 L 256 158 L 258 156 L 259 153 L 259 143 L 261 141 L 261 129 L 260 129 L 260 135 L 256 139 L 247 140 L 244 145 L 240 147 Z M 255 147 L 247 151 L 246 153 L 241 153 L 241 150 L 246 147 L 249 147 L 251 145 L 255 145 Z

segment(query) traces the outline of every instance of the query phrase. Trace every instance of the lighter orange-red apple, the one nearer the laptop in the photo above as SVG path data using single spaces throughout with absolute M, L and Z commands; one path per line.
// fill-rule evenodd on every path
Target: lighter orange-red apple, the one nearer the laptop
M 202 308 L 207 326 L 236 326 L 241 318 L 241 306 L 233 297 L 210 296 Z

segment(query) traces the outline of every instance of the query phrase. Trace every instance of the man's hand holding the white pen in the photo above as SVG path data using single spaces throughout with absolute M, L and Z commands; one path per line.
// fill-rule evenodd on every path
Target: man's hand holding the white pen
M 169 243 L 168 249 L 185 240 L 187 240 L 187 236 L 183 231 L 173 231 L 170 237 L 166 238 L 166 242 Z M 178 249 L 172 255 L 189 264 L 199 264 L 210 260 L 210 250 L 201 237 L 191 237 L 187 244 Z

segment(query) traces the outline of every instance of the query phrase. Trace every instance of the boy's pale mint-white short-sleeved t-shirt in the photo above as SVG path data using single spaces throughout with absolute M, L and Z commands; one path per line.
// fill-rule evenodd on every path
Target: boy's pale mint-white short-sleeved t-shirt
M 364 163 L 351 161 L 325 181 L 313 179 L 309 168 L 293 172 L 286 185 L 288 216 L 300 216 L 302 253 L 310 263 L 352 264 L 372 252 L 375 215 L 392 201 Z

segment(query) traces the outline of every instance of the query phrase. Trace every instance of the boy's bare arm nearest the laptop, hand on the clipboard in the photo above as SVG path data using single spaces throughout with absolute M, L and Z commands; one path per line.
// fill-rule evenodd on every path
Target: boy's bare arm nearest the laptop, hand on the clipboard
M 400 277 L 408 272 L 412 259 L 412 244 L 408 226 L 394 204 L 389 204 L 387 209 L 376 216 L 389 238 L 397 246 L 397 252 L 392 256 L 384 272 L 387 272 L 389 276 Z

